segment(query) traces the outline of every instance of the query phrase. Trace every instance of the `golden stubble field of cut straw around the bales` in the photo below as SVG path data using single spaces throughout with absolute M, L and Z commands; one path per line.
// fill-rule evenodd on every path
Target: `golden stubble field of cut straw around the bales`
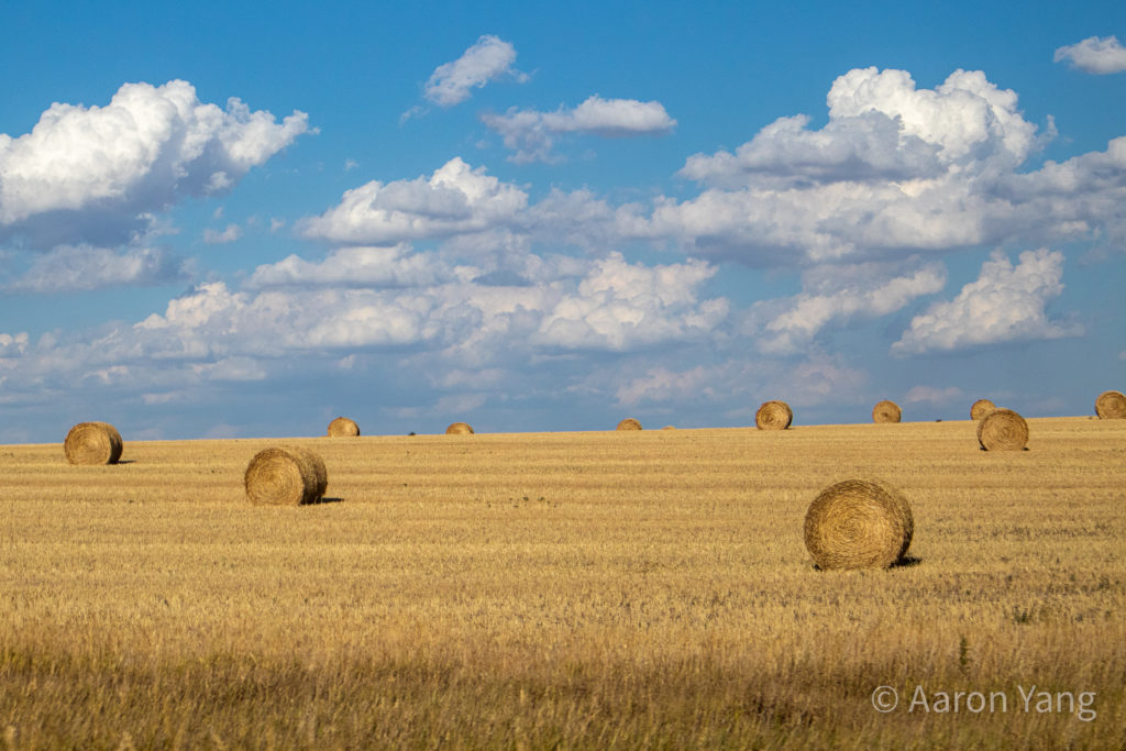
M 1123 748 L 1126 420 L 0 447 L 8 748 Z M 304 446 L 327 502 L 251 506 Z M 806 509 L 886 480 L 890 570 Z M 894 690 L 894 694 L 890 692 Z M 897 704 L 894 703 L 897 697 Z M 882 709 L 886 712 L 882 712 Z

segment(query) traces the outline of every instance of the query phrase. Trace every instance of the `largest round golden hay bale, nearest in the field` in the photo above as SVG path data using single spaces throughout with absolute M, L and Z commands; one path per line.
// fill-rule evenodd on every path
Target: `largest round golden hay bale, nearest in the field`
M 844 480 L 821 491 L 805 512 L 805 547 L 819 569 L 886 569 L 914 534 L 903 494 L 879 480 Z

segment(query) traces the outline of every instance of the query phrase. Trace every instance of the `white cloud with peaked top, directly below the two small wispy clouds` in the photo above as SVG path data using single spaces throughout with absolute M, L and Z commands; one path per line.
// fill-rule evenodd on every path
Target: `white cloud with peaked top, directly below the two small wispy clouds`
M 373 180 L 349 190 L 340 205 L 303 220 L 298 232 L 339 243 L 387 245 L 483 232 L 511 222 L 527 203 L 527 194 L 516 186 L 455 157 L 429 178 Z

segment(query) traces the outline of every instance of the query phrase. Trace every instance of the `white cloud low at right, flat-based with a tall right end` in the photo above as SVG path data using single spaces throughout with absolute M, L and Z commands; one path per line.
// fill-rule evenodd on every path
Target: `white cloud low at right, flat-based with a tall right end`
M 1081 334 L 1078 324 L 1047 316 L 1047 303 L 1063 292 L 1063 253 L 1040 249 L 1020 253 L 1013 266 L 1003 252 L 994 252 L 977 280 L 957 297 L 912 319 L 892 352 L 915 355 Z

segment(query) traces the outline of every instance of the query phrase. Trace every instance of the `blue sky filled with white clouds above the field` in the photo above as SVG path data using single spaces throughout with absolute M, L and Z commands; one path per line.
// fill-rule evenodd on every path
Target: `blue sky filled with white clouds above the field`
M 1116 2 L 11 3 L 0 442 L 1090 414 Z

